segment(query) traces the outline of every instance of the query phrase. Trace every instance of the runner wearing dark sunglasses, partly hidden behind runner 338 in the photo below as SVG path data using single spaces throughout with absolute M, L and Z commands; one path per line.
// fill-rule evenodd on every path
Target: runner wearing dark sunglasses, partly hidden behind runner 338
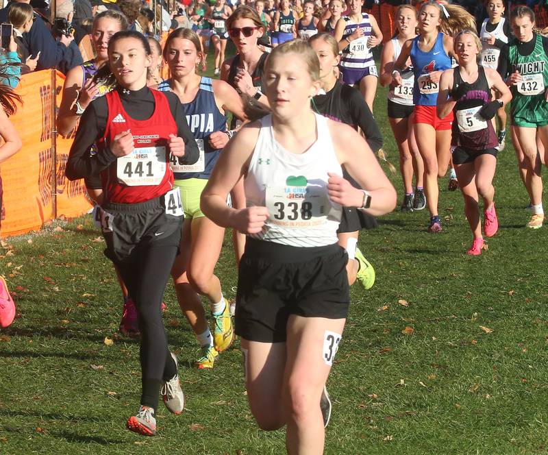
M 269 54 L 258 46 L 258 39 L 264 33 L 260 17 L 249 6 L 241 6 L 227 19 L 227 28 L 236 47 L 236 55 L 223 62 L 221 80 L 228 82 L 240 95 L 247 95 L 268 104 L 268 99 L 262 94 L 262 75 L 264 62 Z M 238 121 L 233 117 L 231 129 L 238 126 Z M 232 188 L 230 197 L 234 208 L 245 208 L 243 180 Z M 244 254 L 245 235 L 233 230 L 232 238 L 238 263 Z

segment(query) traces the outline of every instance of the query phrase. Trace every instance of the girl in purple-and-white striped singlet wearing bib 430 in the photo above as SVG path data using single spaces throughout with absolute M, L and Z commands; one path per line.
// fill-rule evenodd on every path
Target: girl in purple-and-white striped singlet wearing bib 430
M 382 42 L 382 33 L 371 14 L 362 12 L 363 0 L 349 0 L 350 14 L 338 20 L 335 38 L 343 51 L 340 74 L 343 82 L 360 88 L 365 102 L 373 112 L 377 92 L 377 66 L 371 49 Z

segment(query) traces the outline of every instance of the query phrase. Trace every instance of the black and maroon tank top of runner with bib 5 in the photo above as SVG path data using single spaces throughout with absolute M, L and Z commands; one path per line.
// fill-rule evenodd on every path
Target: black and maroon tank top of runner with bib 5
M 453 87 L 463 84 L 459 67 L 453 69 Z M 478 66 L 477 79 L 471 88 L 458 99 L 453 112 L 457 123 L 459 145 L 466 150 L 493 149 L 498 145 L 493 122 L 479 115 L 479 110 L 491 101 L 491 90 L 483 66 Z

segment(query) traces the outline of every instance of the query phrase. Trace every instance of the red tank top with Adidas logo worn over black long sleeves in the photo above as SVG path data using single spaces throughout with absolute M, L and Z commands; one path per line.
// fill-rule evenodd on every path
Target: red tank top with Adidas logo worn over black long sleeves
M 171 115 L 166 97 L 151 90 L 154 112 L 147 120 L 132 119 L 122 106 L 120 95 L 113 90 L 105 95 L 108 119 L 105 135 L 99 145 L 108 147 L 116 134 L 131 130 L 134 151 L 101 172 L 105 198 L 118 204 L 145 202 L 164 195 L 173 188 L 173 172 L 169 168 L 170 134 L 177 135 L 177 124 Z

